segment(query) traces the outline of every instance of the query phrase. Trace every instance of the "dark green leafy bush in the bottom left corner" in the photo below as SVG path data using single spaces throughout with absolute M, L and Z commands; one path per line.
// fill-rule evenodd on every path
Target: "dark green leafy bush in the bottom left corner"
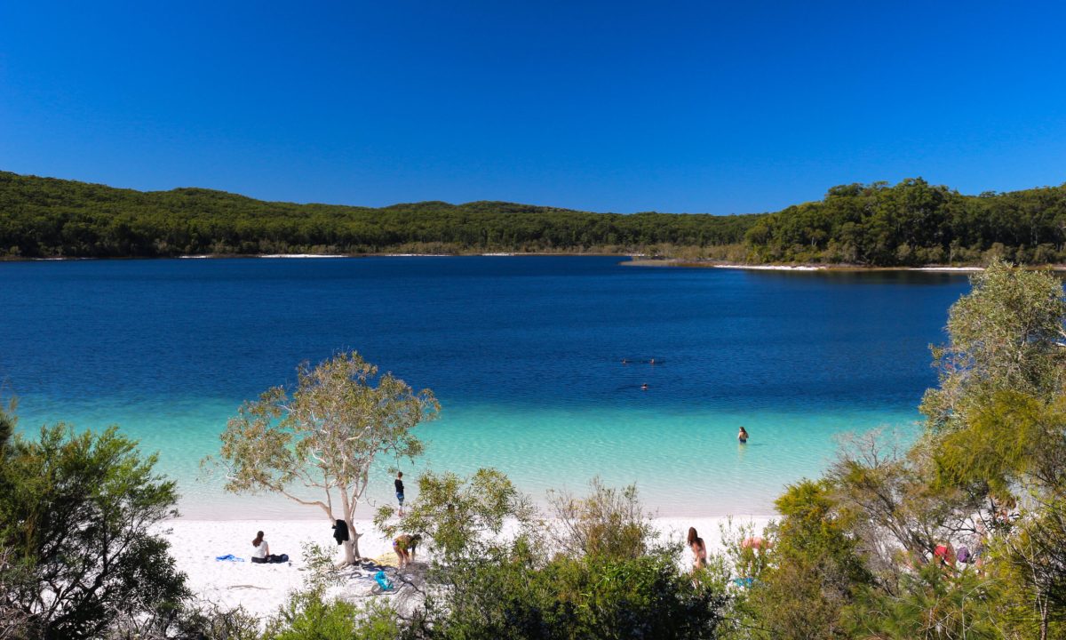
M 142 458 L 114 428 L 75 434 L 62 425 L 9 439 L 3 455 L 0 598 L 27 618 L 26 637 L 97 638 L 177 611 L 184 576 L 149 532 L 176 515 L 156 457 Z

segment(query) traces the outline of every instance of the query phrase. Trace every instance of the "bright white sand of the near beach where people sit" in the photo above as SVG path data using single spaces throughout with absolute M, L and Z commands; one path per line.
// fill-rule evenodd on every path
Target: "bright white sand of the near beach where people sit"
M 733 525 L 749 523 L 761 529 L 771 516 L 738 516 Z M 696 527 L 707 542 L 708 549 L 722 548 L 720 526 L 725 517 L 662 517 L 656 518 L 656 528 L 667 539 L 679 540 L 689 527 Z M 374 529 L 370 521 L 357 521 L 356 528 L 362 533 L 359 551 L 364 557 L 391 557 L 391 541 Z M 332 549 L 341 559 L 341 550 L 333 539 L 330 524 L 318 519 L 246 519 L 246 521 L 196 521 L 178 518 L 158 526 L 171 543 L 178 570 L 188 575 L 189 588 L 200 599 L 222 608 L 243 607 L 249 613 L 265 619 L 284 605 L 292 591 L 304 586 L 308 575 L 303 548 L 314 543 Z M 287 554 L 286 564 L 253 564 L 252 539 L 256 531 L 263 531 L 272 554 Z M 232 554 L 243 558 L 243 562 L 219 561 L 216 557 Z M 419 560 L 431 559 L 426 549 Z M 687 562 L 687 558 L 679 558 Z M 358 601 L 375 596 L 371 593 L 373 578 L 368 572 L 352 576 L 345 585 L 330 590 L 333 595 Z

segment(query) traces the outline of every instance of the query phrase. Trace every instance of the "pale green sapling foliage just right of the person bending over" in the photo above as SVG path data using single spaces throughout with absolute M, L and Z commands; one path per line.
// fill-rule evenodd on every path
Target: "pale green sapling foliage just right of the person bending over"
M 478 469 L 468 478 L 426 471 L 418 480 L 418 498 L 399 521 L 392 506 L 378 508 L 374 525 L 389 537 L 421 534 L 446 561 L 500 535 L 506 521 L 528 530 L 536 515 L 529 497 L 497 469 Z

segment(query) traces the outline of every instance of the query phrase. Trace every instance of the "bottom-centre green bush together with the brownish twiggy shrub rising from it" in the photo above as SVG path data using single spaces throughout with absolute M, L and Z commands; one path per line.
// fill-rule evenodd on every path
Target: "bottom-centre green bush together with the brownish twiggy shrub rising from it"
M 679 571 L 679 547 L 653 545 L 632 486 L 593 481 L 588 496 L 555 494 L 552 502 L 559 518 L 545 523 L 547 544 L 530 533 L 470 535 L 451 548 L 431 572 L 441 595 L 427 601 L 417 635 L 714 637 L 727 599 L 721 581 L 693 580 Z

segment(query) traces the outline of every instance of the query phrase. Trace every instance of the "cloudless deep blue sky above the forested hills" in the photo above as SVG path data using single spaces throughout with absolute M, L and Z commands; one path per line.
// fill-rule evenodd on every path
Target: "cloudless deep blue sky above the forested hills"
M 621 212 L 1060 185 L 1060 6 L 4 2 L 0 170 Z

